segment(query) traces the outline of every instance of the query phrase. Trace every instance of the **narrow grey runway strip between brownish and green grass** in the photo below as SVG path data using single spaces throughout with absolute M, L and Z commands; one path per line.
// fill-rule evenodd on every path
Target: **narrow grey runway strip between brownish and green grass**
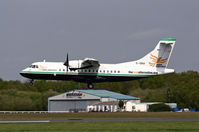
M 49 122 L 177 122 L 199 121 L 199 118 L 94 118 L 53 120 L 0 120 L 0 123 L 49 123 Z

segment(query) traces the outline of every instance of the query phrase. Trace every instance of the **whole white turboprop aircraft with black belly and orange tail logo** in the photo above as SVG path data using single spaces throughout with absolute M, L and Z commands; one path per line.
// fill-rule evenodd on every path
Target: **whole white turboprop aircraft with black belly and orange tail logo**
M 35 62 L 20 74 L 33 80 L 74 80 L 85 82 L 93 88 L 96 82 L 130 81 L 173 73 L 167 65 L 176 39 L 163 38 L 154 50 L 143 58 L 117 64 L 102 64 L 93 58 L 71 60 L 67 54 L 65 62 Z

